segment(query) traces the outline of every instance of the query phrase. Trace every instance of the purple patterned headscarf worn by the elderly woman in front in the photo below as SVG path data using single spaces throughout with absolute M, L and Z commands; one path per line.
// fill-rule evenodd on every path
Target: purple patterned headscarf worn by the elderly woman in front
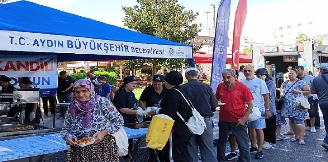
M 74 89 L 76 87 L 84 87 L 90 91 L 91 95 L 84 103 L 81 103 L 80 101 L 78 101 L 75 98 Z M 94 104 L 96 103 L 97 99 L 99 98 L 99 96 L 95 95 L 95 93 L 94 93 L 94 86 L 91 83 L 91 81 L 86 80 L 86 79 L 81 79 L 81 80 L 75 81 L 75 83 L 73 85 L 73 92 L 72 92 L 71 97 L 72 97 L 72 99 L 71 99 L 71 104 L 70 104 L 70 111 L 72 114 L 72 119 L 75 119 L 75 112 L 80 111 L 82 114 L 85 114 L 85 117 L 82 122 L 82 126 L 87 127 L 91 121 L 91 110 L 93 109 Z

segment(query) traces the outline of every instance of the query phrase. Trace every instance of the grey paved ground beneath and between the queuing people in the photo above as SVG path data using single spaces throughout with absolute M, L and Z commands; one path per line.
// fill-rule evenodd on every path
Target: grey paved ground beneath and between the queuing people
M 320 112 L 321 113 L 321 112 Z M 59 115 L 57 115 L 59 116 Z M 217 119 L 217 113 L 215 114 L 215 119 Z M 52 116 L 44 116 L 45 126 L 52 127 Z M 55 127 L 60 128 L 63 125 L 63 120 L 56 120 Z M 282 127 L 281 132 L 288 130 L 288 126 Z M 269 150 L 264 150 L 264 157 L 262 160 L 257 160 L 252 157 L 252 162 L 262 161 L 262 162 L 328 162 L 328 152 L 321 147 L 323 138 L 325 137 L 325 130 L 323 125 L 323 119 L 321 115 L 321 127 L 316 133 L 306 132 L 305 136 L 305 146 L 299 146 L 297 142 L 290 142 L 289 140 L 277 141 L 273 144 L 273 148 Z M 227 148 L 230 148 L 229 145 Z M 230 149 L 229 149 L 230 150 Z M 227 152 L 229 152 L 227 150 Z M 216 152 L 216 146 L 215 146 Z M 252 154 L 254 156 L 255 154 Z M 145 143 L 140 144 L 136 156 L 136 162 L 146 162 L 148 159 L 148 149 L 145 147 Z M 122 159 L 121 159 L 122 161 Z M 65 155 L 63 152 L 57 153 L 53 162 L 65 162 Z

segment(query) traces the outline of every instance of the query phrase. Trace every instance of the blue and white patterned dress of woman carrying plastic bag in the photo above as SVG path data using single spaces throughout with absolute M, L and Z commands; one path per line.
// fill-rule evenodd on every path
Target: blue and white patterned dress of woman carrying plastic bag
M 304 117 L 307 113 L 307 109 L 301 109 L 296 107 L 297 94 L 292 93 L 293 90 L 302 91 L 302 87 L 308 85 L 305 81 L 298 80 L 294 85 L 288 83 L 289 80 L 282 83 L 284 87 L 283 94 L 285 95 L 285 103 L 282 106 L 281 116 L 284 117 Z M 292 86 L 293 85 L 293 86 Z M 292 86 L 292 88 L 290 88 Z M 290 88 L 290 89 L 289 89 Z M 289 90 L 288 90 L 289 89 Z M 288 91 L 288 92 L 287 92 Z

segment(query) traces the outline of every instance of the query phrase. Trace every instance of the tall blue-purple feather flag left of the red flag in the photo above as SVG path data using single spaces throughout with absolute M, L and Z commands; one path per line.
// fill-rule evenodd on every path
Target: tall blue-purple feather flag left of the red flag
M 221 0 L 216 16 L 216 30 L 212 61 L 211 87 L 216 92 L 217 86 L 222 82 L 222 70 L 227 59 L 228 31 L 231 0 Z

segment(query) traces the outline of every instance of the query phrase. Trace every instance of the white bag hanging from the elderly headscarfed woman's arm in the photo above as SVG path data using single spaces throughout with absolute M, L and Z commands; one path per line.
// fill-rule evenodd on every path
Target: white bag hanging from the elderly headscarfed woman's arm
M 99 101 L 98 105 L 100 107 Z M 107 119 L 107 118 L 106 118 Z M 111 125 L 111 122 L 107 119 L 107 127 Z M 129 153 L 129 140 L 123 127 L 116 133 L 110 134 L 115 138 L 116 145 L 118 146 L 118 156 L 125 156 Z

